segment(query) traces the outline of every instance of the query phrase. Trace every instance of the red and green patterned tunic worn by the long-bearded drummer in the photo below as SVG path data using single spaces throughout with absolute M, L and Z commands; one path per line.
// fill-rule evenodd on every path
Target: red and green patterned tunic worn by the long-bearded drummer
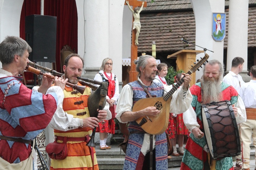
M 223 100 L 229 100 L 231 104 L 237 102 L 238 92 L 232 86 L 223 83 L 221 84 Z M 200 129 L 203 129 L 201 118 L 201 85 L 200 83 L 194 84 L 190 87 L 191 94 L 193 95 L 193 101 L 191 106 L 194 108 L 197 114 L 197 122 L 200 125 Z M 181 169 L 182 170 L 203 170 L 204 163 L 207 161 L 207 152 L 203 150 L 206 145 L 205 136 L 201 139 L 195 138 L 193 133 L 190 133 L 185 152 L 182 158 Z M 232 157 L 225 157 L 223 159 L 217 159 L 216 170 L 231 170 L 233 169 Z

